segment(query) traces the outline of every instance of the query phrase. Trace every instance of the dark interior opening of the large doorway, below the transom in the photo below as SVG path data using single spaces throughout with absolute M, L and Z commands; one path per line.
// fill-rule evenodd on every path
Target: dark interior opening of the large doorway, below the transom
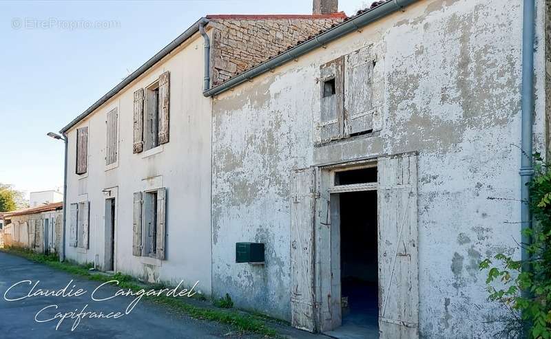
M 377 253 L 377 191 L 341 193 L 342 330 L 349 338 L 378 338 Z

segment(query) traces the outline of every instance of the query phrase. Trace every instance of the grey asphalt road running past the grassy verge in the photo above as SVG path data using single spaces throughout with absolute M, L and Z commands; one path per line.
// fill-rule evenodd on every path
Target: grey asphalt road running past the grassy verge
M 37 289 L 59 290 L 71 280 L 73 282 L 67 292 L 75 285 L 74 290 L 83 289 L 86 293 L 80 296 L 34 296 L 14 301 L 6 300 L 24 297 L 37 281 Z M 19 283 L 21 281 L 32 281 L 32 285 Z M 17 283 L 19 284 L 10 289 Z M 129 314 L 125 314 L 125 309 L 134 297 L 118 296 L 105 301 L 94 301 L 91 298 L 92 292 L 100 284 L 101 282 L 76 278 L 48 266 L 0 252 L 0 338 L 244 338 L 232 333 L 227 325 L 173 314 L 164 307 L 144 300 Z M 118 287 L 105 286 L 94 296 L 107 298 L 116 291 Z M 98 294 L 99 292 L 101 294 Z M 56 305 L 57 308 L 48 307 L 50 305 Z M 75 313 L 79 313 L 85 305 L 85 311 L 94 311 L 96 314 L 101 311 L 104 315 L 121 312 L 123 316 L 85 316 L 74 329 L 72 327 L 77 318 L 65 318 L 61 324 L 59 317 L 54 318 L 58 313 L 64 315 L 75 310 Z M 48 308 L 41 311 L 44 307 Z M 58 324 L 59 327 L 56 329 Z

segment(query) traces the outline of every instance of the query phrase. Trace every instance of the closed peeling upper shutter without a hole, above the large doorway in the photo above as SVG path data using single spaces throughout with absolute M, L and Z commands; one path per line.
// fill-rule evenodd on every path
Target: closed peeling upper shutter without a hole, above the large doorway
M 345 135 L 373 131 L 375 58 L 370 47 L 346 56 L 344 80 Z

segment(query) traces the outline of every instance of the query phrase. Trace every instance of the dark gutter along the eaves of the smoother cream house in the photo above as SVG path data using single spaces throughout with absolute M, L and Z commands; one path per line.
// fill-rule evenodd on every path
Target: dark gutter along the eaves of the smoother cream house
M 160 61 L 162 58 L 170 54 L 173 50 L 176 49 L 179 45 L 181 45 L 183 42 L 185 42 L 187 39 L 189 39 L 190 36 L 195 34 L 199 31 L 199 23 L 205 18 L 201 18 L 196 23 L 191 25 L 190 28 L 185 30 L 180 36 L 178 36 L 176 39 L 174 39 L 171 43 L 166 45 L 163 50 L 160 50 L 157 54 L 155 54 L 152 58 L 150 58 L 148 61 L 146 61 L 143 65 L 141 65 L 140 68 L 136 69 L 132 74 L 127 76 L 121 83 L 116 85 L 112 90 L 108 91 L 107 94 L 102 96 L 98 101 L 94 102 L 94 105 L 90 106 L 86 111 L 84 111 L 80 116 L 77 116 L 74 118 L 67 126 L 63 127 L 61 129 L 60 133 L 64 134 L 67 132 L 71 127 L 79 123 L 79 121 L 83 120 L 87 116 L 89 116 L 93 111 L 98 109 L 101 105 L 103 105 L 107 100 L 110 100 L 113 96 L 115 96 L 119 91 L 123 90 L 127 85 L 132 83 L 132 81 L 136 80 L 139 76 L 144 74 L 147 69 L 154 66 L 158 61 Z

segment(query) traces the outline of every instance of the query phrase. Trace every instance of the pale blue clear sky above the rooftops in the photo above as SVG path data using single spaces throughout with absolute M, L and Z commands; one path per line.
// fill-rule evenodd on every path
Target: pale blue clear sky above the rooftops
M 351 15 L 366 3 L 340 0 L 339 8 Z M 59 131 L 205 14 L 311 8 L 311 0 L 1 2 L 0 183 L 26 193 L 62 188 L 63 142 L 45 134 Z M 106 27 L 82 27 L 95 21 Z

